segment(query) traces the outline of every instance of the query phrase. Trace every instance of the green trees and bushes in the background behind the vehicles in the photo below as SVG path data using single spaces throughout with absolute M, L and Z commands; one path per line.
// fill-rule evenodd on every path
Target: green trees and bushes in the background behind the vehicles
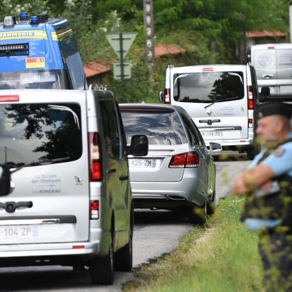
M 186 49 L 176 65 L 238 63 L 236 46 L 250 30 L 280 30 L 288 33 L 288 0 L 153 0 L 155 44 L 178 44 Z M 112 64 L 117 56 L 105 34 L 137 32 L 126 59 L 132 62 L 132 79 L 124 88 L 127 100 L 158 100 L 164 71 L 172 59 L 155 67 L 145 60 L 145 30 L 141 0 L 4 0 L 0 17 L 20 12 L 48 13 L 49 18 L 64 17 L 76 33 L 84 63 Z M 194 47 L 196 49 L 194 49 Z M 171 56 L 170 56 L 171 58 Z M 163 58 L 161 58 L 163 60 Z M 109 76 L 111 87 L 120 82 Z M 145 96 L 146 95 L 146 96 Z

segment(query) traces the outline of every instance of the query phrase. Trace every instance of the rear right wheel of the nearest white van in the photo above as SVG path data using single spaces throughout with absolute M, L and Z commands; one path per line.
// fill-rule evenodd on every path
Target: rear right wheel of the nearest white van
M 90 263 L 91 282 L 94 285 L 111 285 L 114 281 L 114 251 L 113 235 L 108 255 L 103 258 L 96 258 Z

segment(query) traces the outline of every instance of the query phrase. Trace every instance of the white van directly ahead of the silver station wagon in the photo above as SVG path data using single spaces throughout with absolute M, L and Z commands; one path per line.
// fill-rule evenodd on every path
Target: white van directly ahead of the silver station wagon
M 185 108 L 207 146 L 220 143 L 223 150 L 246 152 L 250 159 L 260 150 L 253 116 L 259 103 L 253 66 L 169 65 L 159 99 Z

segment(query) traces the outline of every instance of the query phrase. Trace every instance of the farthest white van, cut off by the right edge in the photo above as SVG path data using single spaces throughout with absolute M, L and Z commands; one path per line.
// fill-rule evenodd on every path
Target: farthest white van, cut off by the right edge
M 292 101 L 292 43 L 251 45 L 247 63 L 256 70 L 259 90 L 270 88 L 269 100 Z

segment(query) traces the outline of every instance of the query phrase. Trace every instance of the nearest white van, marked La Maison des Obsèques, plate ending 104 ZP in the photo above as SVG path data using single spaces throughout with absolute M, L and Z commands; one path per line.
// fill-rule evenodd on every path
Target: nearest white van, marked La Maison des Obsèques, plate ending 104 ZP
M 133 200 L 114 94 L 89 90 L 2 90 L 0 164 L 11 188 L 0 196 L 0 267 L 63 265 L 111 284 L 132 268 Z M 87 267 L 87 268 L 85 268 Z

